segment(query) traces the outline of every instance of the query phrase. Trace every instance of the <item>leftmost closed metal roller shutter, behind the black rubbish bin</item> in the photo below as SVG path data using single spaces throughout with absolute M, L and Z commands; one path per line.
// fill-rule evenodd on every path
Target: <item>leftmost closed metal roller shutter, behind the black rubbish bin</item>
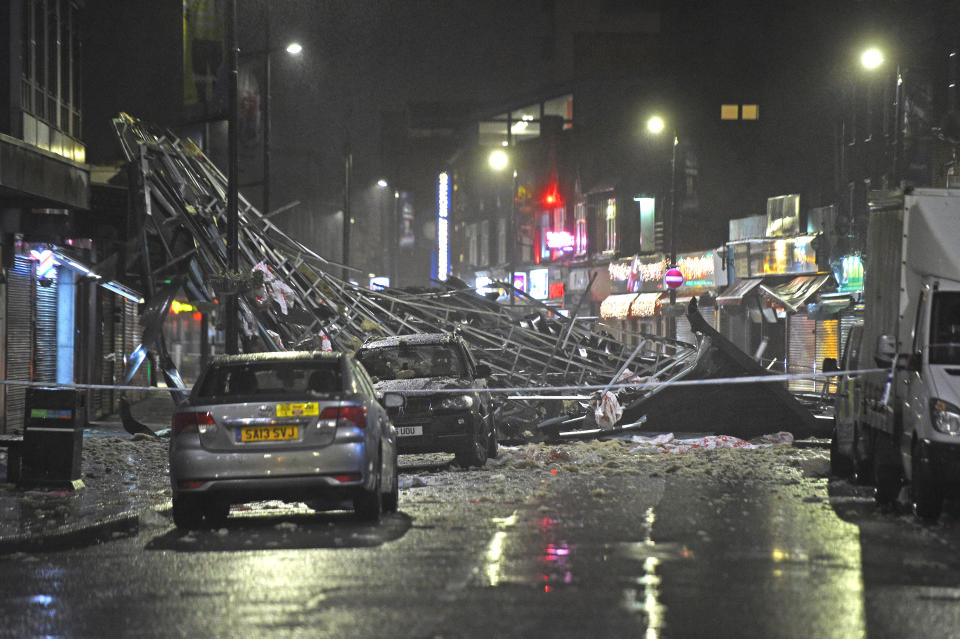
M 21 256 L 7 272 L 7 379 L 32 381 L 33 262 Z M 23 428 L 26 386 L 5 385 L 6 429 Z

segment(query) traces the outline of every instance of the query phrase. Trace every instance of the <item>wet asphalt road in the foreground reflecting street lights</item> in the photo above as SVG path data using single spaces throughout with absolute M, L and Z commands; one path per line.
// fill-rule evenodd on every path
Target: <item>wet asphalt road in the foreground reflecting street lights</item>
M 825 478 L 424 477 L 378 525 L 261 508 L 185 535 L 161 513 L 0 557 L 0 636 L 960 636 L 955 504 L 924 526 Z

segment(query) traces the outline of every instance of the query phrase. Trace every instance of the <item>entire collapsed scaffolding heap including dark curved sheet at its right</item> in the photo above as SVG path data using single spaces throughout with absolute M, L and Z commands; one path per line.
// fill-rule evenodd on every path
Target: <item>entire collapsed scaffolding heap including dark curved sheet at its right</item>
M 196 144 L 168 130 L 126 114 L 114 119 L 114 127 L 131 167 L 131 237 L 139 245 L 129 253 L 139 256 L 140 288 L 147 296 L 143 343 L 129 357 L 124 383 L 152 353 L 167 385 L 179 389 L 174 400 L 185 397 L 187 386 L 162 331 L 170 305 L 186 297 L 205 312 L 217 309 L 222 322 L 224 301 L 235 297 L 243 352 L 353 352 L 375 337 L 458 333 L 490 367 L 488 386 L 509 389 L 493 393 L 497 429 L 508 442 L 528 441 L 528 432 L 534 439 L 555 439 L 561 432 L 602 434 L 624 425 L 683 431 L 699 428 L 705 411 L 718 416 L 718 432 L 748 439 L 760 427 L 812 429 L 809 411 L 782 385 L 690 390 L 670 384 L 765 372 L 744 354 L 731 355 L 732 345 L 712 328 L 701 331 L 700 344 L 636 335 L 630 350 L 595 322 L 579 321 L 579 305 L 565 317 L 508 283 L 493 286 L 510 293 L 514 304 L 478 295 L 455 277 L 430 287 L 368 290 L 337 275 L 353 269 L 290 237 L 242 196 L 239 270 L 232 272 L 223 173 Z M 709 328 L 695 303 L 689 316 L 696 330 Z M 564 393 L 601 388 L 589 402 L 564 399 Z M 745 430 L 744 422 L 754 419 L 732 419 L 734 410 L 755 415 L 755 425 Z M 129 410 L 121 415 L 128 432 L 152 432 Z M 529 431 L 534 424 L 540 428 Z

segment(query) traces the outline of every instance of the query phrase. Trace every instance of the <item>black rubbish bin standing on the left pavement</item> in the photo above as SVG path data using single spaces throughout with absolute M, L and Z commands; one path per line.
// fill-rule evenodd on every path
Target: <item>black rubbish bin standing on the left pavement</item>
M 64 485 L 80 479 L 84 395 L 28 388 L 20 450 L 20 484 Z

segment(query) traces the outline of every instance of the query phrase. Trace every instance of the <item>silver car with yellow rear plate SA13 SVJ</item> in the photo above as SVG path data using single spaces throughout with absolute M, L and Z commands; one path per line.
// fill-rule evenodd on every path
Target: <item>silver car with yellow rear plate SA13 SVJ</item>
M 343 353 L 214 358 L 173 415 L 170 481 L 181 528 L 216 526 L 262 499 L 398 505 L 396 429 L 367 372 Z

